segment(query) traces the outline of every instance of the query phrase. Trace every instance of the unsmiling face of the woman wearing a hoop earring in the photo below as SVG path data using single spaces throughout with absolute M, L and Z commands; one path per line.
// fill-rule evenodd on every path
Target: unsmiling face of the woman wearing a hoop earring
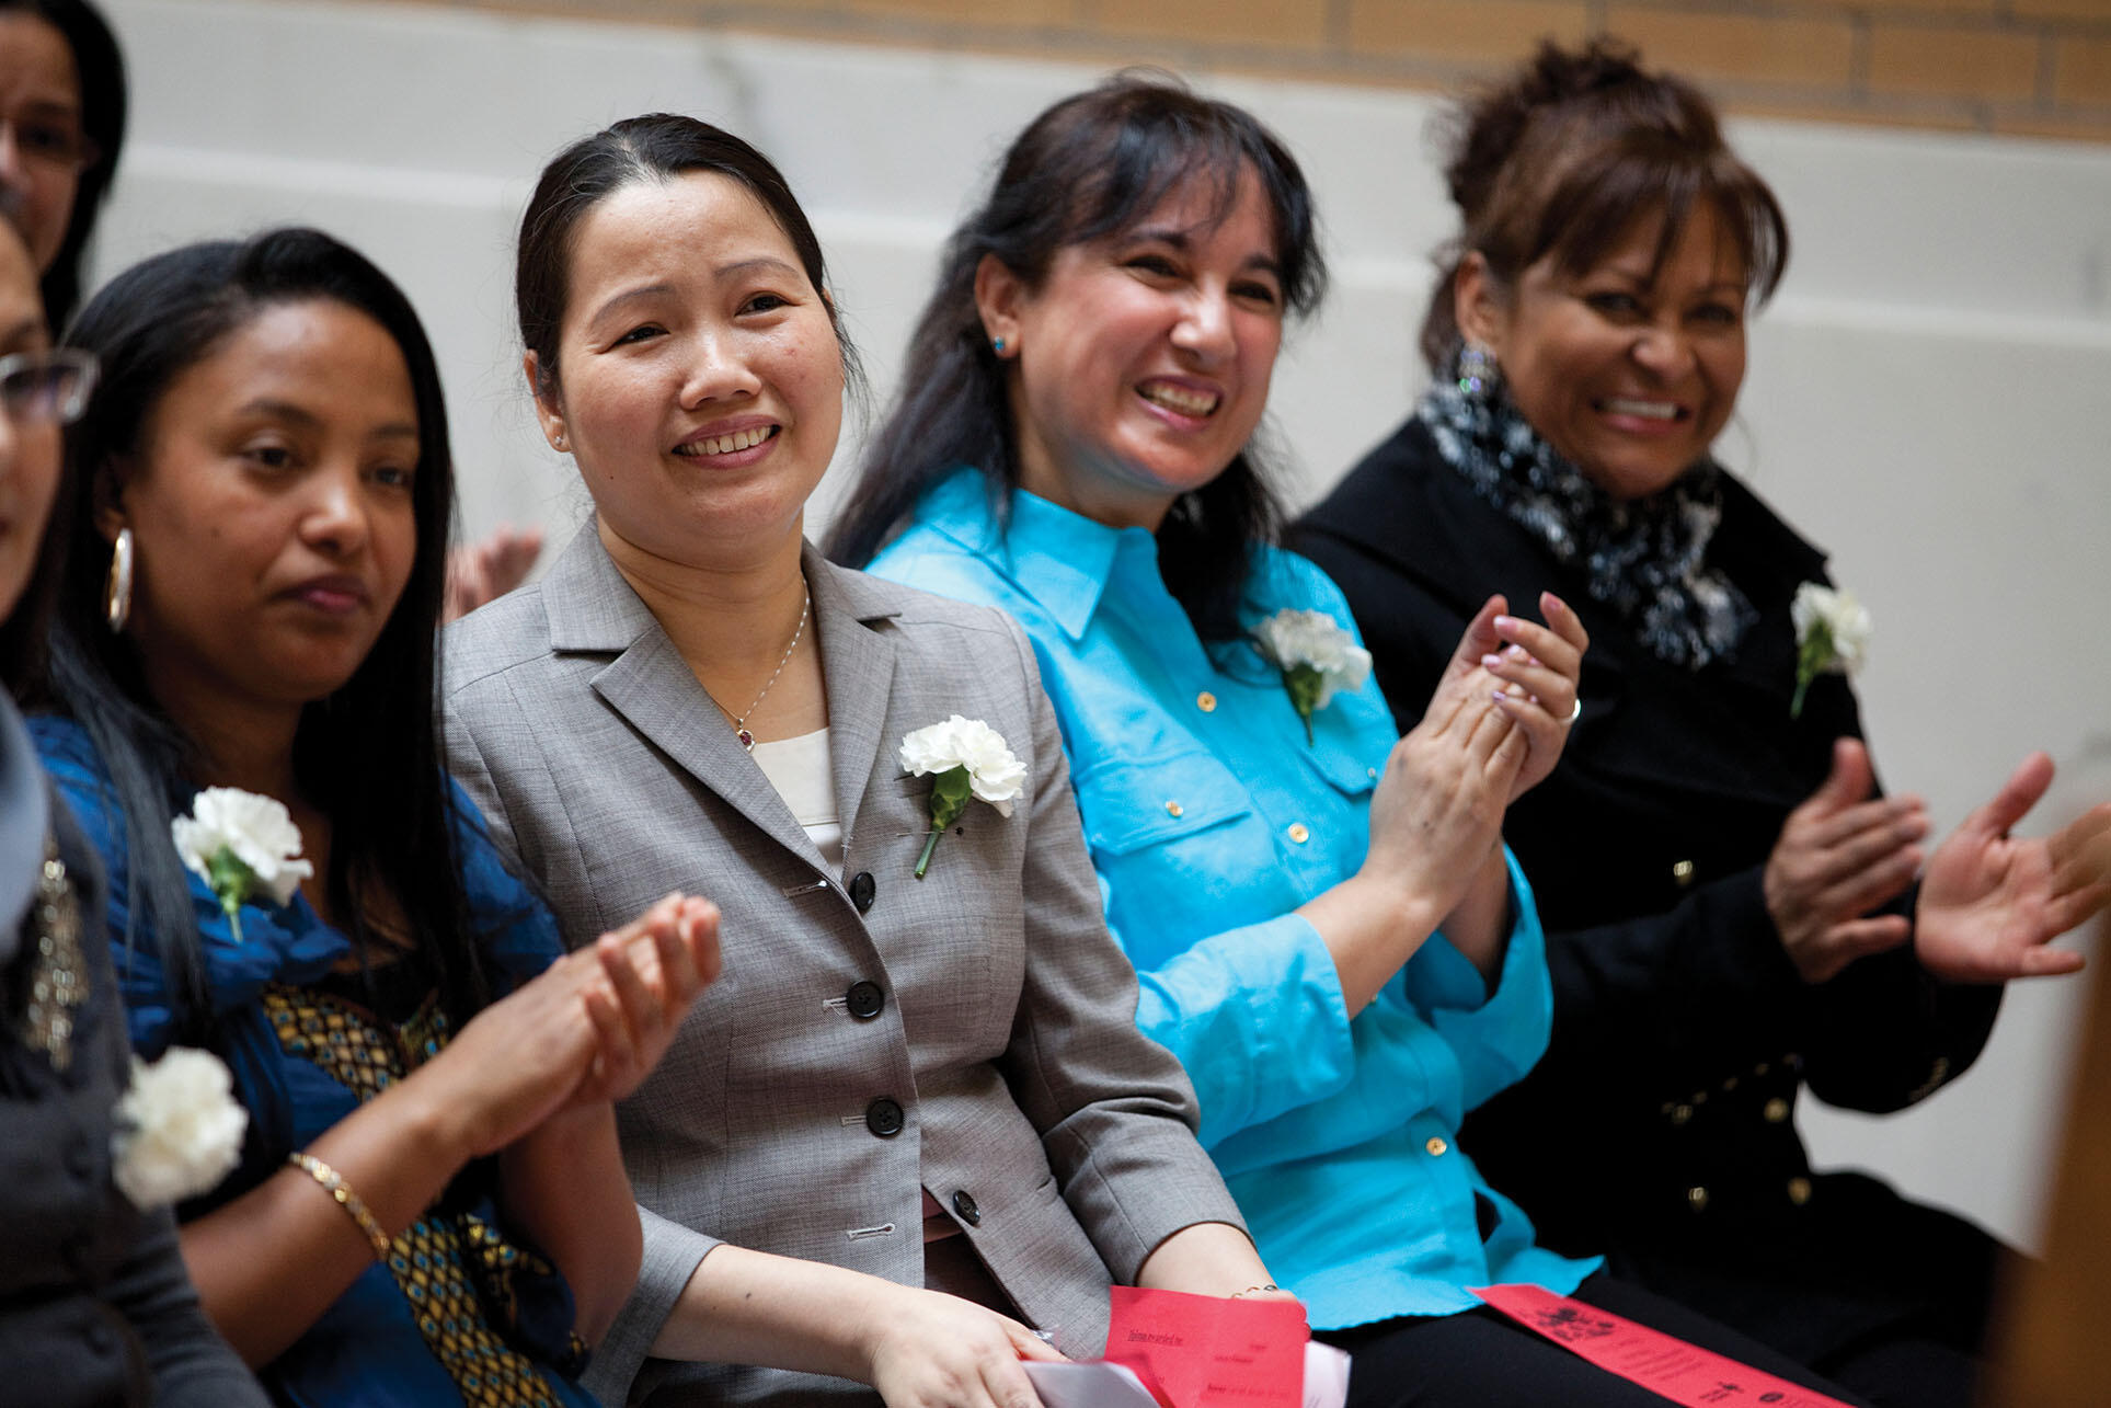
M 416 471 L 403 353 L 346 304 L 266 304 L 179 372 L 99 515 L 133 530 L 154 697 L 184 718 L 350 680 L 410 581 Z

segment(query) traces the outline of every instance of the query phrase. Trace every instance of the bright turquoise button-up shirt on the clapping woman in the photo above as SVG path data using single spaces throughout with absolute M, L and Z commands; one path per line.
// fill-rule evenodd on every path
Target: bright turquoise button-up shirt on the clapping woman
M 1533 1066 L 1554 1013 L 1516 857 L 1492 992 L 1440 933 L 1351 1020 L 1326 944 L 1294 914 L 1364 863 L 1395 741 L 1376 684 L 1336 695 L 1307 743 L 1252 642 L 1197 638 L 1148 532 L 1026 492 L 999 526 L 971 469 L 935 486 L 870 570 L 1003 606 L 1032 638 L 1106 920 L 1142 979 L 1136 1020 L 1186 1064 L 1201 1140 L 1315 1328 L 1448 1315 L 1495 1281 L 1566 1294 L 1596 1269 L 1535 1245 L 1459 1148 L 1459 1121 Z M 1283 608 L 1355 631 L 1319 568 L 1264 549 L 1248 614 Z

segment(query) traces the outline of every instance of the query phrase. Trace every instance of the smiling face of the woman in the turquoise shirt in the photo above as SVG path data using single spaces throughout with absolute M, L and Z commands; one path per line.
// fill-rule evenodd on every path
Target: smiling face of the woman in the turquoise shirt
M 1283 338 L 1275 220 L 1250 169 L 1216 207 L 1214 184 L 1188 182 L 1129 230 L 1064 245 L 1037 287 L 982 262 L 1026 490 L 1155 530 L 1254 437 Z

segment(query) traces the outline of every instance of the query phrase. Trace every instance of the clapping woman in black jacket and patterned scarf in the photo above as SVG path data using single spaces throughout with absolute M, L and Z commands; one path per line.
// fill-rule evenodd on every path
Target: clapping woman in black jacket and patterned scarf
M 1853 606 L 1708 456 L 1788 230 L 1699 93 L 1547 46 L 1463 112 L 1446 175 L 1435 384 L 1292 545 L 1347 591 L 1404 722 L 1490 591 L 1554 591 L 1592 635 L 1564 758 L 1505 827 L 1554 1041 L 1467 1148 L 1549 1245 L 1879 1402 L 1965 1404 L 1999 1243 L 1813 1176 L 1794 1100 L 1913 1104 L 1978 1055 L 2001 979 L 2079 967 L 2046 941 L 2103 903 L 2077 853 L 2111 808 L 2010 840 L 2039 754 L 1923 857 L 1919 800 L 1875 796 L 1826 669 Z

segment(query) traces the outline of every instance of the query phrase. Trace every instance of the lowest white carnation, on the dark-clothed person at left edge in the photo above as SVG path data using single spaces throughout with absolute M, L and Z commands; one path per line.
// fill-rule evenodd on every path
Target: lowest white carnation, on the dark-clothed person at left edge
M 133 1058 L 110 1136 L 112 1180 L 148 1212 L 220 1186 L 241 1159 L 249 1110 L 211 1051 L 169 1047 L 148 1066 Z

